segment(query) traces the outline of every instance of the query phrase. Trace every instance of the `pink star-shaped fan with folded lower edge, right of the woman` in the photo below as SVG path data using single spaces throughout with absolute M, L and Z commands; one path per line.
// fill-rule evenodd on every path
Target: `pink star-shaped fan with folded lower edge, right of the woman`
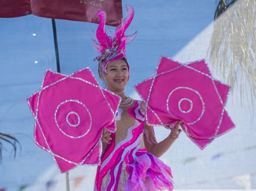
M 162 57 L 156 73 L 135 89 L 148 124 L 183 120 L 184 132 L 201 149 L 234 127 L 224 108 L 229 86 L 213 79 L 204 60 L 181 64 Z

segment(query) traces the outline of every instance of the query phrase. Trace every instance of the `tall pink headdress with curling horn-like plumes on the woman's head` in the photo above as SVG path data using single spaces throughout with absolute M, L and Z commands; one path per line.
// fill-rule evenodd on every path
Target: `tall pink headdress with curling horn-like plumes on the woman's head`
M 135 37 L 135 32 L 133 35 L 125 36 L 124 32 L 129 27 L 130 22 L 133 20 L 134 10 L 130 5 L 126 5 L 127 8 L 127 16 L 126 19 L 122 21 L 122 23 L 116 27 L 116 31 L 113 37 L 109 37 L 105 31 L 105 21 L 106 21 L 106 13 L 105 11 L 100 11 L 96 16 L 100 17 L 99 26 L 96 31 L 96 37 L 98 39 L 98 43 L 96 40 L 93 40 L 94 49 L 100 53 L 100 56 L 94 58 L 94 60 L 99 61 L 99 71 L 103 70 L 105 73 L 106 66 L 111 61 L 116 61 L 117 59 L 126 59 L 126 44 L 130 43 Z M 129 64 L 127 62 L 128 68 Z

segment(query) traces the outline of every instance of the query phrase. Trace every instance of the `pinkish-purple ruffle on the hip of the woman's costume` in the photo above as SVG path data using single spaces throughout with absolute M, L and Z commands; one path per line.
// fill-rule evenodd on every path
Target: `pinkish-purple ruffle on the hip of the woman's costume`
M 135 163 L 128 166 L 130 172 L 126 190 L 155 191 L 172 190 L 173 181 L 171 169 L 162 160 L 151 153 L 145 153 L 136 158 Z

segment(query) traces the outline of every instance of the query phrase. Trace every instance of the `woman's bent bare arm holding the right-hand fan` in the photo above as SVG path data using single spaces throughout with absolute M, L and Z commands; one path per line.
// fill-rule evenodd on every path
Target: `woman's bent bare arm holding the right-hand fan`
M 147 148 L 147 152 L 152 153 L 156 157 L 162 156 L 174 143 L 174 141 L 178 138 L 178 135 L 181 133 L 181 129 L 179 129 L 180 124 L 183 121 L 178 121 L 176 125 L 171 128 L 171 133 L 161 142 L 156 142 L 156 136 L 153 133 L 153 127 L 145 124 L 145 132 L 144 133 L 144 142 L 145 147 Z

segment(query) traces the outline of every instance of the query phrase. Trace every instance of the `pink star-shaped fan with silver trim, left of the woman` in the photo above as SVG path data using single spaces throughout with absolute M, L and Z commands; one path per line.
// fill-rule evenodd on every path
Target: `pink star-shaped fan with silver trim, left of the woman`
M 89 68 L 72 75 L 47 70 L 28 98 L 36 144 L 50 152 L 61 172 L 100 163 L 102 129 L 115 132 L 120 97 L 99 87 Z

